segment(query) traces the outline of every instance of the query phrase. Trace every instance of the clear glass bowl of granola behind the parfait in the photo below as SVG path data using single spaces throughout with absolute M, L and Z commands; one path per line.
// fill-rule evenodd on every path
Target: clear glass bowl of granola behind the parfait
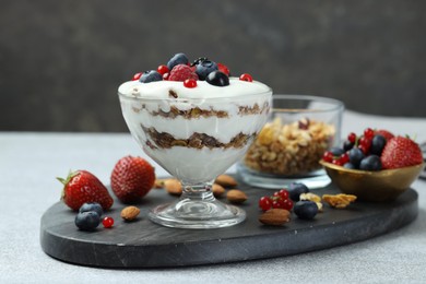
M 319 161 L 340 143 L 344 104 L 308 95 L 273 95 L 268 123 L 237 164 L 251 186 L 282 188 L 304 182 L 321 188 L 331 182 Z

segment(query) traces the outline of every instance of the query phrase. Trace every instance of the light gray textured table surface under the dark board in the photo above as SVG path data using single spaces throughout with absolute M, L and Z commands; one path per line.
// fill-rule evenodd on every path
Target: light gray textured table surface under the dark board
M 346 111 L 343 133 L 366 127 L 416 134 L 426 119 Z M 108 184 L 115 163 L 143 155 L 127 133 L 0 132 L 0 283 L 426 283 L 426 181 L 416 180 L 418 217 L 366 241 L 293 257 L 179 269 L 107 270 L 68 264 L 39 245 L 43 213 L 59 200 L 57 176 L 88 169 Z M 155 165 L 155 163 L 154 163 Z M 157 174 L 165 171 L 157 165 Z M 229 168 L 233 173 L 235 167 Z

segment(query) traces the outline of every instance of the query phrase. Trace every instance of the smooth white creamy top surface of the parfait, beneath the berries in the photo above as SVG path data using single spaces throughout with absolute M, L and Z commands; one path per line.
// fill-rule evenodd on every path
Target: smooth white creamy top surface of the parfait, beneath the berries
M 229 78 L 227 86 L 215 86 L 205 81 L 197 81 L 196 87 L 186 87 L 184 82 L 178 81 L 151 83 L 129 81 L 122 83 L 118 88 L 122 95 L 146 98 L 170 98 L 170 91 L 176 93 L 178 98 L 222 98 L 271 92 L 270 87 L 261 82 L 247 82 L 238 78 Z

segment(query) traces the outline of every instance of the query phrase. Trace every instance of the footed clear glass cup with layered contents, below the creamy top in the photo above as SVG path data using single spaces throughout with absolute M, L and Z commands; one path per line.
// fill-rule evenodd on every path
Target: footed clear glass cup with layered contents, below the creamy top
M 267 122 L 272 91 L 227 98 L 144 98 L 119 93 L 128 128 L 158 165 L 180 180 L 182 194 L 149 214 L 180 228 L 236 225 L 246 212 L 215 199 L 215 178 L 239 161 Z

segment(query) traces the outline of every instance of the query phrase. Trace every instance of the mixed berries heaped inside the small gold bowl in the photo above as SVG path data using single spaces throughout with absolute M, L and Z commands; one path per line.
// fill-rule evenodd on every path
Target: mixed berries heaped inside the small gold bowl
M 359 135 L 351 132 L 342 147 L 324 152 L 322 159 L 350 169 L 377 171 L 422 164 L 423 155 L 409 137 L 366 128 Z

